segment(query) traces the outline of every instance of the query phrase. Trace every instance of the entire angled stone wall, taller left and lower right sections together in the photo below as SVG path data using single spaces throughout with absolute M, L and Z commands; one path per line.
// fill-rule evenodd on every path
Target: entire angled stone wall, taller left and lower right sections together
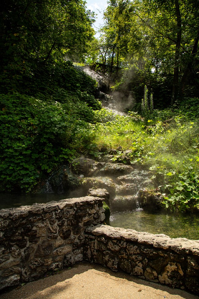
M 0 290 L 85 260 L 199 293 L 199 241 L 102 225 L 102 200 L 0 210 Z

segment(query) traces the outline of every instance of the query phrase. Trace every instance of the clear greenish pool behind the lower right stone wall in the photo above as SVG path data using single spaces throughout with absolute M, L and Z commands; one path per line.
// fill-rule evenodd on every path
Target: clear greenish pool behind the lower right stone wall
M 171 238 L 199 240 L 199 215 L 152 211 L 125 211 L 111 213 L 109 225 L 130 228 L 138 232 L 165 234 Z

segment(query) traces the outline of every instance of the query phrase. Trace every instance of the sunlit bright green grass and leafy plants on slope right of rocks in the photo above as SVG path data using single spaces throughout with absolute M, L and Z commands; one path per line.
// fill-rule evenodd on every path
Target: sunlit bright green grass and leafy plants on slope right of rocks
M 199 209 L 198 121 L 180 115 L 169 122 L 148 120 L 144 125 L 139 116 L 135 121 L 106 109 L 96 111 L 95 117 L 93 142 L 98 151 L 116 150 L 113 161 L 127 163 L 127 155 L 129 163 L 148 169 L 167 209 Z M 124 155 L 126 150 L 130 151 Z

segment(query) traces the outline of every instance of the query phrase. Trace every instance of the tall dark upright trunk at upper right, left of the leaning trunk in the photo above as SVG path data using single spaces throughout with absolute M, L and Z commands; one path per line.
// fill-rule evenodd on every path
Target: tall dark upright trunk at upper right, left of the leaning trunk
M 177 41 L 175 45 L 175 65 L 173 76 L 173 90 L 172 90 L 172 102 L 176 99 L 178 94 L 178 77 L 179 77 L 179 59 L 180 59 L 180 43 L 181 43 L 181 14 L 178 0 L 175 0 L 175 12 L 177 16 Z

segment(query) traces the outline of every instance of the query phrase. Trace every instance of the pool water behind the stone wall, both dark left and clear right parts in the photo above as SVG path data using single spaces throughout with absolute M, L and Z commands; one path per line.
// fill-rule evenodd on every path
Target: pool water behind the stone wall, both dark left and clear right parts
M 0 194 L 0 209 L 17 208 L 21 205 L 59 201 L 79 197 L 76 192 L 66 194 Z M 81 195 L 82 196 L 82 195 Z M 109 225 L 131 228 L 138 232 L 165 234 L 171 238 L 199 240 L 199 214 L 165 213 L 164 211 L 124 211 L 111 213 Z

